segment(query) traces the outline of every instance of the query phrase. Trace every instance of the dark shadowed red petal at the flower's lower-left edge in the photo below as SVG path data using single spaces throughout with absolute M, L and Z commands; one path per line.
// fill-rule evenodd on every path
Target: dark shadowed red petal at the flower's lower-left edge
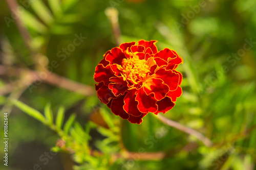
M 119 115 L 120 117 L 122 117 L 123 119 L 127 119 L 129 118 L 129 114 L 127 114 L 124 110 L 123 110 L 123 102 L 124 99 L 124 95 L 121 95 L 119 98 L 117 99 L 113 99 L 112 104 L 111 104 L 111 111 L 115 114 L 115 115 Z

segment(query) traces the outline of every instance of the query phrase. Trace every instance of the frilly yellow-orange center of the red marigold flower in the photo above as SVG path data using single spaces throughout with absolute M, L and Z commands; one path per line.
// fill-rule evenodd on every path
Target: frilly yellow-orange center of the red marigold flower
M 119 65 L 118 69 L 122 71 L 121 76 L 123 80 L 127 80 L 130 85 L 130 89 L 135 86 L 140 86 L 144 82 L 145 78 L 150 72 L 150 66 L 147 65 L 146 60 L 140 60 L 139 56 L 135 53 L 128 53 L 130 58 L 122 60 L 122 66 Z

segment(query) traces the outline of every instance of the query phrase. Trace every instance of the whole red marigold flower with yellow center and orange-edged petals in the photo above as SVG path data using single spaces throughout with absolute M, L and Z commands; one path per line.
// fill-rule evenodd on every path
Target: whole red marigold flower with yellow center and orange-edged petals
M 182 94 L 183 59 L 173 50 L 158 51 L 156 40 L 122 43 L 104 54 L 94 80 L 100 101 L 115 115 L 140 124 L 148 112 L 172 109 Z

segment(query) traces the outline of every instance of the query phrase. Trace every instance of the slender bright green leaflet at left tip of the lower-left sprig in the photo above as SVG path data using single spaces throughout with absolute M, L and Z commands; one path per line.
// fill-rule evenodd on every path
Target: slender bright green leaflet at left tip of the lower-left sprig
M 34 117 L 35 119 L 39 120 L 40 122 L 46 124 L 45 117 L 39 111 L 29 107 L 28 105 L 26 105 L 26 104 L 24 104 L 22 102 L 15 101 L 15 100 L 12 100 L 12 102 L 20 110 L 24 111 L 25 113 L 27 113 L 28 115 Z

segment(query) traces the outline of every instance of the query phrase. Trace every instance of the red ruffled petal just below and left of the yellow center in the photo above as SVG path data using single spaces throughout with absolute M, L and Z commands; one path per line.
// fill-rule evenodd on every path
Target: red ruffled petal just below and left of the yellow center
M 115 94 L 115 96 L 118 96 L 119 94 L 123 95 L 125 91 L 127 91 L 127 82 L 123 81 L 122 78 L 111 78 L 111 82 L 109 84 L 109 88 L 112 90 L 112 92 Z

